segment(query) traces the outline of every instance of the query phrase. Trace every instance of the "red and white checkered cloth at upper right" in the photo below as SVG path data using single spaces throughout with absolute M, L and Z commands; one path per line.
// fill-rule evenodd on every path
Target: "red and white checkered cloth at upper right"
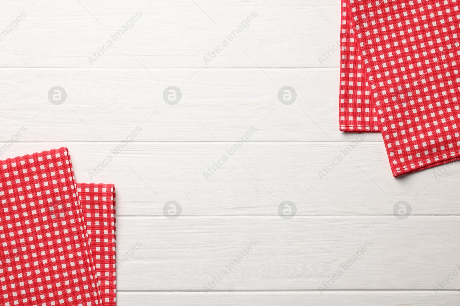
M 340 130 L 381 131 L 395 177 L 459 159 L 458 2 L 341 3 Z

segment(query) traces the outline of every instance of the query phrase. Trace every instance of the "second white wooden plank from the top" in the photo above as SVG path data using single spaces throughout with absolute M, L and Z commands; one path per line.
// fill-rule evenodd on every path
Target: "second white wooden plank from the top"
M 339 131 L 339 69 L 3 69 L 0 140 L 18 128 L 22 141 L 118 141 L 140 126 L 137 141 L 351 141 Z M 271 80 L 270 80 L 271 79 Z M 42 81 L 43 80 L 43 81 Z M 170 105 L 169 86 L 182 92 Z M 278 92 L 291 86 L 291 105 Z M 61 86 L 63 104 L 48 100 Z M 58 97 L 56 97 L 58 98 Z M 173 98 L 173 96 L 171 97 Z M 380 133 L 367 139 L 382 141 Z

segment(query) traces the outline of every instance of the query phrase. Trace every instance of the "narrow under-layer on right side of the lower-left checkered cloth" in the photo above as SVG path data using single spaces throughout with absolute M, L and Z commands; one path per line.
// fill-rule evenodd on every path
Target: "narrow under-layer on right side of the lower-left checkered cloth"
M 104 306 L 115 306 L 115 187 L 77 184 Z

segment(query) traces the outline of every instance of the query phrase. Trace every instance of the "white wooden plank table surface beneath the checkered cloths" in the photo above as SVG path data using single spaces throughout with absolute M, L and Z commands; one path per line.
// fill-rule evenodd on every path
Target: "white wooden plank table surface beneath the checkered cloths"
M 339 131 L 339 53 L 319 60 L 339 1 L 26 0 L 0 16 L 1 141 L 27 128 L 1 158 L 67 146 L 79 182 L 115 184 L 118 305 L 459 305 L 458 165 L 393 178 L 368 134 L 318 174 L 359 136 Z

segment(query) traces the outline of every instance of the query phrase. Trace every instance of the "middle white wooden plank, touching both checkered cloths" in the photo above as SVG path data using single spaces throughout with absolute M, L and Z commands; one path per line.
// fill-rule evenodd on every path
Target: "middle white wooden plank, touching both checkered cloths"
M 297 216 L 393 217 L 401 200 L 413 215 L 460 215 L 457 164 L 440 177 L 433 174 L 442 172 L 437 167 L 393 178 L 381 143 L 366 141 L 347 156 L 341 152 L 347 144 L 338 142 L 249 142 L 232 156 L 226 150 L 234 143 L 227 142 L 134 142 L 115 156 L 111 150 L 119 145 L 18 143 L 1 158 L 67 146 L 77 181 L 115 184 L 121 216 L 164 217 L 162 207 L 170 200 L 180 203 L 183 216 L 278 218 L 278 206 L 286 200 L 296 205 Z M 228 161 L 206 180 L 203 172 L 224 154 Z M 104 161 L 109 155 L 113 160 Z M 338 155 L 343 161 L 321 180 L 318 172 Z M 94 171 L 103 161 L 107 166 Z

